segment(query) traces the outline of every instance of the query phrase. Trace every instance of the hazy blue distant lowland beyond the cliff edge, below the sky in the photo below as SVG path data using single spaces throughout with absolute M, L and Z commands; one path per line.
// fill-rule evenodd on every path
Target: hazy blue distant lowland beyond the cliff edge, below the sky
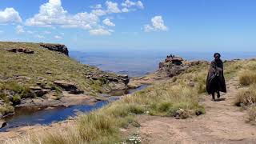
M 178 55 L 186 60 L 206 60 L 213 59 L 212 52 L 174 52 L 158 51 L 151 53 L 148 51 L 94 51 L 81 52 L 70 51 L 70 57 L 90 66 L 97 66 L 101 70 L 111 71 L 118 74 L 128 74 L 130 76 L 142 76 L 158 70 L 158 63 L 162 62 L 166 55 Z M 223 60 L 236 58 L 255 58 L 256 52 L 224 52 Z

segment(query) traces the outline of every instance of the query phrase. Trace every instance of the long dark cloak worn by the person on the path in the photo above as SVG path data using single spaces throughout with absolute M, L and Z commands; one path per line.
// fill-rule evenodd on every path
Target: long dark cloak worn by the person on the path
M 223 62 L 221 59 L 210 62 L 206 90 L 208 94 L 213 94 L 217 91 L 226 93 L 226 82 L 223 72 Z

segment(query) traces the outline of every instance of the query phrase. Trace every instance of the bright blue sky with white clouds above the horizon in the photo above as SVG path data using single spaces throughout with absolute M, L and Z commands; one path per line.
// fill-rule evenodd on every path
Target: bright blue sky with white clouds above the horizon
M 0 41 L 70 50 L 256 51 L 254 0 L 1 0 Z

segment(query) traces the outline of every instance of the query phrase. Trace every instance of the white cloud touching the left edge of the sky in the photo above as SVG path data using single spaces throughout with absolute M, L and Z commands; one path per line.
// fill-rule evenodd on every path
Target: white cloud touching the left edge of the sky
M 14 8 L 6 8 L 6 10 L 0 10 L 0 23 L 8 22 L 22 22 L 22 18 L 19 16 L 18 11 Z

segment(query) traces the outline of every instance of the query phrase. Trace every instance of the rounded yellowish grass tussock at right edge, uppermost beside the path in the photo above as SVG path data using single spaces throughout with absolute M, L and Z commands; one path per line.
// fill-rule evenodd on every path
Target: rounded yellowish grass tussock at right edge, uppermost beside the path
M 242 70 L 239 74 L 239 82 L 242 86 L 256 83 L 256 73 L 252 70 Z

